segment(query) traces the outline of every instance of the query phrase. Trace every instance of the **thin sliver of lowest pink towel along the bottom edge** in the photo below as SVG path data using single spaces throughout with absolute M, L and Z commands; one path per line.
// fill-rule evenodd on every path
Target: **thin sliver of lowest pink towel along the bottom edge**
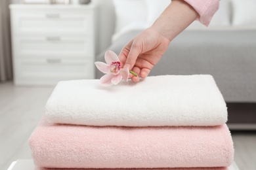
M 228 167 L 184 167 L 184 168 L 127 168 L 127 169 L 70 169 L 70 168 L 45 168 L 45 167 L 36 167 L 35 170 L 228 170 Z

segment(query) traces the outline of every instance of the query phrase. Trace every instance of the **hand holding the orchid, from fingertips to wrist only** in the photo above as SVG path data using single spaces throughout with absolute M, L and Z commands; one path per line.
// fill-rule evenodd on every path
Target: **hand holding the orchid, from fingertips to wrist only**
M 169 39 L 160 35 L 154 27 L 145 29 L 123 47 L 119 54 L 121 65 L 145 78 L 161 59 L 169 43 Z M 139 76 L 130 74 L 129 78 L 139 81 Z

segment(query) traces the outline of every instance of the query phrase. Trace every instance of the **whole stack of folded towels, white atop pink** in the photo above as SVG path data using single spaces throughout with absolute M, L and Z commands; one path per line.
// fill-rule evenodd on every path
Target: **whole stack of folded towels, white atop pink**
M 234 157 L 212 76 L 156 76 L 102 87 L 59 82 L 30 137 L 37 169 L 227 169 Z M 178 170 L 177 169 L 177 170 Z

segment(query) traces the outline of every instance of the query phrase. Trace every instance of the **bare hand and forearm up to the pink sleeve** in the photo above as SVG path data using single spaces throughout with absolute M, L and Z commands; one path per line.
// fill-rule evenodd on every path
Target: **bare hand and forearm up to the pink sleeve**
M 172 0 L 154 24 L 142 31 L 119 54 L 121 67 L 145 78 L 161 59 L 169 43 L 199 16 L 188 3 L 183 0 Z M 129 77 L 139 81 L 139 76 Z

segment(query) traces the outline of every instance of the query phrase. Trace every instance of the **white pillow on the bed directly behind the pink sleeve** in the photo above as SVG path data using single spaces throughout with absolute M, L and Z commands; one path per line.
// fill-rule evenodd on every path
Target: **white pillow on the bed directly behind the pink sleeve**
M 239 0 L 242 1 L 242 0 Z M 221 0 L 219 10 L 214 14 L 208 27 L 223 27 L 231 24 L 231 3 L 230 0 Z M 197 20 L 190 24 L 187 29 L 207 29 Z

